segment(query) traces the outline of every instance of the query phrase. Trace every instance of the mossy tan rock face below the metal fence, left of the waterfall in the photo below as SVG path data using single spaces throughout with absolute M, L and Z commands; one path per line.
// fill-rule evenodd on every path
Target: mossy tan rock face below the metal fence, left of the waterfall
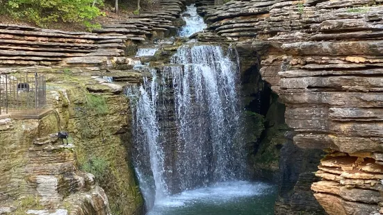
M 45 76 L 54 87 L 47 94 L 50 111 L 39 119 L 0 118 L 0 214 L 141 214 L 122 86 L 103 85 L 106 81 L 96 77 Z M 105 107 L 102 112 L 90 105 L 96 99 L 104 101 L 97 103 Z M 55 137 L 60 130 L 69 132 L 69 139 Z

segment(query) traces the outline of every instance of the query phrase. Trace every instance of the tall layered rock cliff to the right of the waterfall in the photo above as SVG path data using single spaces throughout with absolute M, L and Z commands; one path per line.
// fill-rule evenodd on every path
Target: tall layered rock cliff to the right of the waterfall
M 381 1 L 229 1 L 205 6 L 202 41 L 256 50 L 302 148 L 327 152 L 313 183 L 328 214 L 379 213 Z M 383 212 L 381 210 L 381 212 Z

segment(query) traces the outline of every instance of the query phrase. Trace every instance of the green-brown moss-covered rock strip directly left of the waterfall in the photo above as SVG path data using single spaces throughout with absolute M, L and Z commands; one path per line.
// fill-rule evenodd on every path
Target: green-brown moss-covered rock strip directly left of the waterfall
M 120 138 L 127 124 L 127 98 L 86 90 L 88 80 L 67 90 L 70 98 L 68 130 L 75 143 L 77 166 L 95 175 L 106 191 L 114 214 L 134 214 L 143 199 Z M 88 81 L 89 82 L 89 81 Z

